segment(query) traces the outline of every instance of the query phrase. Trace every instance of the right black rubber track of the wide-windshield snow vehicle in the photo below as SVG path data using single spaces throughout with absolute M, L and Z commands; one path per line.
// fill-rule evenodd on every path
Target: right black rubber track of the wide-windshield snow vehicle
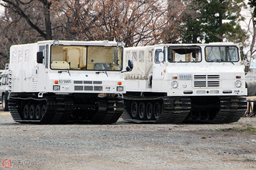
M 99 109 L 92 117 L 93 124 L 113 124 L 123 114 L 122 98 L 99 98 L 98 104 Z

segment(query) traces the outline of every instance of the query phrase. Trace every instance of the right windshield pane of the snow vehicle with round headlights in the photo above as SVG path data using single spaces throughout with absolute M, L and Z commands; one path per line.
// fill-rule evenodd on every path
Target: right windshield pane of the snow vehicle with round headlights
M 237 62 L 239 61 L 237 46 L 206 46 L 206 61 Z

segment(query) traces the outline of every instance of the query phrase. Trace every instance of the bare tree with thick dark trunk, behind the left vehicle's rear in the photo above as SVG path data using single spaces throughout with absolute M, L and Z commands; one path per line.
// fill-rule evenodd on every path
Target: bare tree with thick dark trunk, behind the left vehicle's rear
M 2 63 L 8 62 L 6 58 L 9 56 L 9 47 L 13 44 L 53 39 L 52 32 L 60 26 L 59 22 L 54 19 L 55 15 L 51 14 L 53 13 L 51 5 L 54 2 L 57 1 L 0 1 L 0 5 L 5 8 L 4 14 L 0 16 L 0 60 L 5 60 Z M 54 28 L 52 28 L 51 20 L 54 21 Z

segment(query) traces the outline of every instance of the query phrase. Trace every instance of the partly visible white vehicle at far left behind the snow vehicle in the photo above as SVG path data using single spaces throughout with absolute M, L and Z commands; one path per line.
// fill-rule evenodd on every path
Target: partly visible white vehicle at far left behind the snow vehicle
M 2 109 L 9 111 L 8 95 L 9 95 L 9 64 L 5 64 L 5 70 L 0 71 L 0 95 L 2 102 Z

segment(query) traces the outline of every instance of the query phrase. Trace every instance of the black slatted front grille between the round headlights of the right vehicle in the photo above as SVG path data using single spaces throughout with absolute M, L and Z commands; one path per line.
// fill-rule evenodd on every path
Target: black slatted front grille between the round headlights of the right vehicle
M 194 87 L 220 87 L 220 75 L 194 75 Z

